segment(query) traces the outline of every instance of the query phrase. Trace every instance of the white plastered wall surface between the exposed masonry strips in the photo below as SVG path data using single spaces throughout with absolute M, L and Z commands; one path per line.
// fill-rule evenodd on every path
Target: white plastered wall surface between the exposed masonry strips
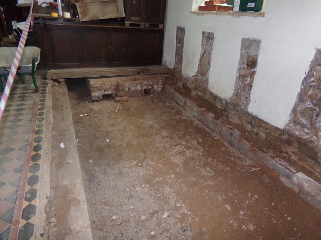
M 232 96 L 241 39 L 261 39 L 251 92 L 250 113 L 283 128 L 315 48 L 321 48 L 321 1 L 266 0 L 265 17 L 195 15 L 198 0 L 168 0 L 163 63 L 174 66 L 176 27 L 185 28 L 182 73 L 195 75 L 202 31 L 214 33 L 209 90 L 221 98 Z

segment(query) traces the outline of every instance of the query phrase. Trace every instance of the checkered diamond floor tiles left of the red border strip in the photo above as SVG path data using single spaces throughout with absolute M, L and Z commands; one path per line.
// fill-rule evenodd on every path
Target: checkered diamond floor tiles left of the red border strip
M 31 79 L 30 79 L 31 80 Z M 38 80 L 39 81 L 39 80 Z M 37 96 L 31 81 L 16 81 L 0 122 L 0 239 L 8 240 Z M 1 95 L 1 92 L 0 92 Z

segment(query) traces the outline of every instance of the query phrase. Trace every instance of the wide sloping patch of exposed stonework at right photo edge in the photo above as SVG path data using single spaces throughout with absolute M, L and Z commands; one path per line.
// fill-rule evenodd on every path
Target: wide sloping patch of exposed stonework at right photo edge
M 306 140 L 300 144 L 300 150 L 321 163 L 321 49 L 316 50 L 301 83 L 290 119 L 286 129 Z

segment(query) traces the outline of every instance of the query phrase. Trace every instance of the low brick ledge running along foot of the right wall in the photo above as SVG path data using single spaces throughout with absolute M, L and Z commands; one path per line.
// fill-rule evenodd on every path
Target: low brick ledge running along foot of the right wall
M 196 120 L 220 135 L 232 147 L 239 150 L 253 162 L 259 164 L 270 175 L 279 178 L 282 183 L 292 188 L 308 203 L 321 210 L 321 185 L 319 183 L 302 172 L 298 172 L 285 161 L 274 159 L 259 149 L 253 148 L 250 142 L 241 137 L 241 133 L 237 129 L 225 126 L 220 121 L 214 119 L 213 113 L 210 113 L 205 108 L 197 107 L 193 100 L 181 96 L 169 85 L 165 85 L 164 92 L 170 100 L 177 103 L 181 108 L 195 117 Z

